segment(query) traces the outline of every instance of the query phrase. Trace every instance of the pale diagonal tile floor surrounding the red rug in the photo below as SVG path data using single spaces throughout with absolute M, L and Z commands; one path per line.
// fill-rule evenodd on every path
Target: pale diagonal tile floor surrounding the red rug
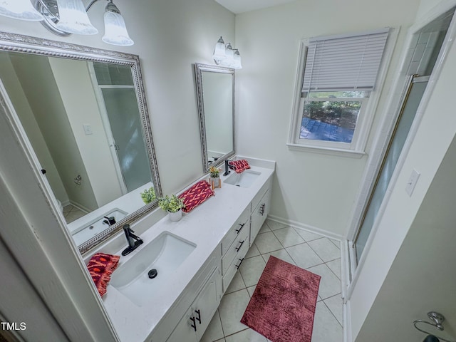
M 340 242 L 266 219 L 201 342 L 268 342 L 240 323 L 270 255 L 321 276 L 312 342 L 343 341 Z

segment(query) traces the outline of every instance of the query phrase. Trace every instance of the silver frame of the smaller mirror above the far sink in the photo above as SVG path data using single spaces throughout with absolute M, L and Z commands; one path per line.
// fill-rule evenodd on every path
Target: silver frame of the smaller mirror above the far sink
M 204 173 L 209 172 L 209 160 L 207 158 L 207 134 L 206 134 L 206 123 L 204 118 L 204 93 L 202 88 L 202 71 L 209 71 L 212 73 L 228 73 L 233 76 L 232 78 L 232 86 L 233 86 L 233 150 L 228 152 L 222 157 L 217 159 L 217 162 L 212 162 L 210 166 L 218 166 L 222 165 L 224 160 L 229 159 L 232 157 L 236 151 L 236 147 L 234 145 L 234 69 L 232 68 L 225 68 L 223 66 L 211 66 L 208 64 L 201 64 L 195 63 L 195 79 L 196 79 L 196 88 L 197 88 L 197 105 L 198 105 L 198 114 L 199 114 L 199 132 L 201 134 L 201 153 L 202 153 L 202 167 Z

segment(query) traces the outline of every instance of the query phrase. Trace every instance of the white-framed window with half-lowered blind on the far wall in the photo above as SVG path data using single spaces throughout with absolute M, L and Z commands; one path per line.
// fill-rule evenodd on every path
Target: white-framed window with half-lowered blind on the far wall
M 302 42 L 289 145 L 362 153 L 388 32 Z

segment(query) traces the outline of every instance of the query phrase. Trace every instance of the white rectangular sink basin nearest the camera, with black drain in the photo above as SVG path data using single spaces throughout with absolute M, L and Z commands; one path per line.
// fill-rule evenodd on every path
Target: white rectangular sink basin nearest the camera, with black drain
M 146 298 L 156 296 L 160 288 L 165 289 L 170 276 L 196 247 L 170 232 L 162 232 L 113 272 L 110 285 L 142 306 Z M 150 272 L 152 269 L 156 272 Z

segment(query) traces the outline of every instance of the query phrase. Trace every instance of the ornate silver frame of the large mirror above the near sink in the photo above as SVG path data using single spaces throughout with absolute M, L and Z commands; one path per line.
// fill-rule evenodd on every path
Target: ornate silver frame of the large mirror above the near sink
M 137 93 L 138 108 L 140 110 L 142 128 L 145 133 L 145 146 L 150 162 L 152 183 L 154 185 L 155 194 L 157 197 L 162 197 L 162 187 L 160 184 L 160 177 L 158 175 L 157 158 L 155 157 L 155 147 L 152 140 L 152 129 L 150 127 L 150 117 L 147 110 L 145 89 L 142 83 L 139 56 L 130 53 L 109 51 L 99 48 L 90 48 L 88 46 L 80 46 L 61 41 L 50 41 L 42 38 L 23 36 L 20 34 L 7 32 L 0 32 L 0 51 L 29 53 L 41 56 L 75 59 L 79 61 L 94 61 L 130 66 L 133 81 L 135 84 L 135 90 Z M 155 201 L 151 202 L 150 204 L 147 204 L 135 212 L 127 215 L 116 224 L 113 224 L 92 239 L 89 239 L 87 242 L 79 245 L 79 252 L 81 252 L 81 254 L 84 254 L 90 249 L 98 246 L 98 244 L 101 242 L 104 242 L 106 239 L 113 237 L 113 235 L 122 230 L 124 224 L 131 224 L 132 222 L 135 222 L 150 212 L 152 209 L 157 207 L 157 205 L 158 199 L 155 199 Z

